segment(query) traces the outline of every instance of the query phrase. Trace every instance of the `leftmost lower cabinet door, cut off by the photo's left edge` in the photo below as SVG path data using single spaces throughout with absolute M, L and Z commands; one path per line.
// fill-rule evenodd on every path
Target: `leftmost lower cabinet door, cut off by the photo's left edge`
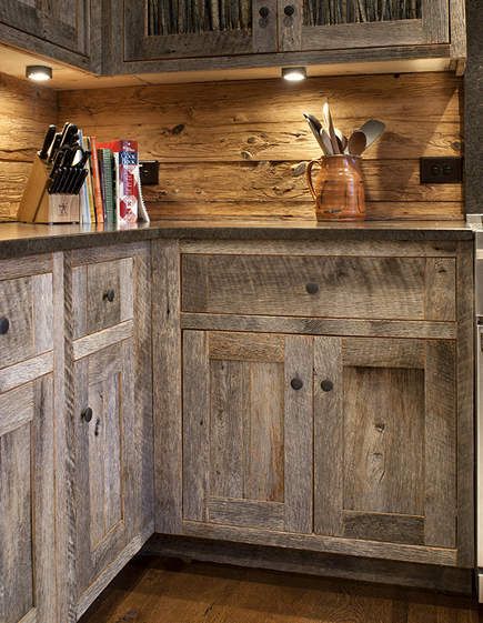
M 0 620 L 56 621 L 52 376 L 0 395 Z

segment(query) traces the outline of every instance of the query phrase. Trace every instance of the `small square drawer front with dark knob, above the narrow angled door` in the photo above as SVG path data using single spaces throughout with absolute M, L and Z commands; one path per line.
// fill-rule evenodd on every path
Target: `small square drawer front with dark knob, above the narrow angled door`
M 73 269 L 74 339 L 132 320 L 133 259 Z

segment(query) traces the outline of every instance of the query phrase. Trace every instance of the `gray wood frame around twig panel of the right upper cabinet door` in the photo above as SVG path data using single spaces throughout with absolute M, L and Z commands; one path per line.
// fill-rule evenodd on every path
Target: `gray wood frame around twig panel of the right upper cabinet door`
M 309 52 L 449 43 L 450 1 L 422 0 L 421 19 L 305 26 L 303 0 L 294 0 L 290 2 L 295 8 L 293 17 L 279 20 L 280 51 Z M 280 7 L 285 4 L 284 0 L 279 0 Z

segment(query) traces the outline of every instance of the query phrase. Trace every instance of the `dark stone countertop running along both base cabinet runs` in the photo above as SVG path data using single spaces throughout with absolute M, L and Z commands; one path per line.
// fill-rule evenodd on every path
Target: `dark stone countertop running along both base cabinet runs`
M 104 225 L 0 223 L 0 258 L 157 238 L 211 240 L 472 240 L 465 221 L 321 222 L 294 219 L 199 219 Z

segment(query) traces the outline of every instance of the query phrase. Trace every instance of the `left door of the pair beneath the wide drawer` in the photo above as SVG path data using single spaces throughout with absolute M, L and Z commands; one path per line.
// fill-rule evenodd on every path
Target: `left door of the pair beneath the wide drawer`
M 184 331 L 183 519 L 312 532 L 311 338 Z

